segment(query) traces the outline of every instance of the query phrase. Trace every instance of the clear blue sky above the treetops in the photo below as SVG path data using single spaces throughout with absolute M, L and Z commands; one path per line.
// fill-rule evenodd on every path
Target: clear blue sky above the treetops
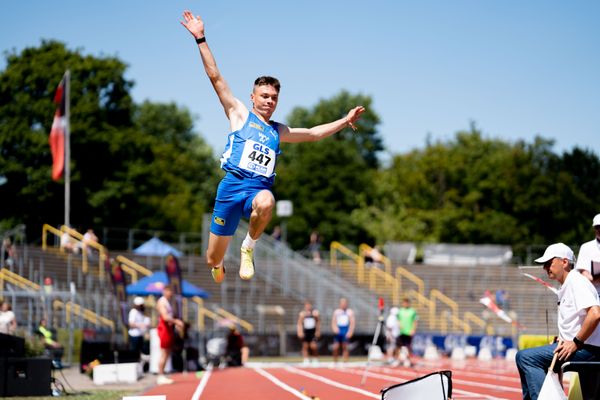
M 274 119 L 346 89 L 374 99 L 388 155 L 422 148 L 427 135 L 449 139 L 470 121 L 486 137 L 541 135 L 556 151 L 600 155 L 600 2 L 3 0 L 0 50 L 46 38 L 117 56 L 136 101 L 187 107 L 219 153 L 228 123 L 179 25 L 184 9 L 205 20 L 246 104 L 257 76 L 281 80 Z

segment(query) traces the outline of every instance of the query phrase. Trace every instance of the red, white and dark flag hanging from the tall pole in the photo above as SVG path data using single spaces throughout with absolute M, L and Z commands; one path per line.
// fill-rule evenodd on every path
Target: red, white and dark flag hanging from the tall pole
M 67 90 L 67 75 L 63 76 L 56 94 L 54 95 L 54 103 L 56 104 L 56 112 L 52 121 L 52 129 L 50 130 L 50 150 L 52 152 L 52 179 L 59 180 L 65 169 L 65 143 L 66 143 L 66 90 Z

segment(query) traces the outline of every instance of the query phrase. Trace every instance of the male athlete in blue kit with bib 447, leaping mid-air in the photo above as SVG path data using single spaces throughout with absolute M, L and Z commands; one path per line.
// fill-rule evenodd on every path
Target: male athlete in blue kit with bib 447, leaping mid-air
M 231 133 L 227 137 L 221 157 L 221 168 L 227 172 L 217 189 L 212 215 L 207 262 L 215 282 L 225 278 L 223 258 L 243 215 L 250 218 L 248 234 L 242 243 L 240 277 L 254 275 L 254 246 L 271 220 L 275 199 L 271 186 L 275 179 L 275 165 L 280 142 L 299 143 L 324 139 L 350 126 L 365 111 L 358 106 L 336 121 L 313 128 L 290 128 L 271 121 L 279 100 L 280 84 L 276 78 L 261 76 L 254 82 L 250 94 L 252 110 L 233 96 L 221 76 L 204 36 L 204 22 L 190 11 L 183 12 L 181 24 L 194 36 L 204 70 L 212 83 Z

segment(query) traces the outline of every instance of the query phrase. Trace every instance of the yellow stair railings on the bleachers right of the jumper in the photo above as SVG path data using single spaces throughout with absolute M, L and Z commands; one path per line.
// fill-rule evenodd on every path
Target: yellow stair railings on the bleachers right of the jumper
M 348 247 L 339 242 L 331 243 L 330 265 L 341 267 L 346 274 L 378 295 L 385 296 L 393 304 L 400 304 L 401 297 L 408 297 L 420 313 L 427 315 L 429 329 L 441 333 L 473 332 L 472 324 L 481 329 L 487 329 L 488 334 L 493 329 L 484 320 L 471 312 L 460 316 L 460 307 L 456 301 L 446 296 L 437 289 L 432 289 L 429 296 L 425 294 L 425 284 L 421 278 L 403 267 L 397 267 L 395 275 L 392 274 L 393 266 L 391 260 L 382 256 L 383 268 L 365 266 L 365 254 L 372 248 L 366 244 L 359 246 L 359 254 L 354 253 Z M 411 285 L 412 288 L 408 288 Z M 439 307 L 442 304 L 443 307 Z

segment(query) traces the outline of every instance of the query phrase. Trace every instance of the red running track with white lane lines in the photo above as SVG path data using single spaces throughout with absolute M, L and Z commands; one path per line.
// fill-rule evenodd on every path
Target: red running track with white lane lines
M 521 399 L 521 385 L 514 362 L 492 360 L 423 361 L 413 368 L 371 366 L 361 386 L 363 365 L 333 368 L 298 364 L 250 364 L 205 372 L 174 374 L 172 385 L 156 386 L 146 395 L 193 400 L 359 400 L 380 399 L 380 390 L 433 371 L 452 371 L 453 399 Z

